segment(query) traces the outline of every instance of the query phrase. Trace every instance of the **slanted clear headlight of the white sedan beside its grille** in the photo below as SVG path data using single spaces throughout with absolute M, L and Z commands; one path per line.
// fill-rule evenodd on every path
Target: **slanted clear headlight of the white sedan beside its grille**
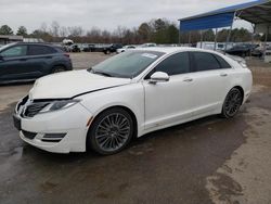
M 64 110 L 78 103 L 80 100 L 63 100 L 63 101 L 53 101 L 44 106 L 39 113 L 53 112 L 59 110 Z

